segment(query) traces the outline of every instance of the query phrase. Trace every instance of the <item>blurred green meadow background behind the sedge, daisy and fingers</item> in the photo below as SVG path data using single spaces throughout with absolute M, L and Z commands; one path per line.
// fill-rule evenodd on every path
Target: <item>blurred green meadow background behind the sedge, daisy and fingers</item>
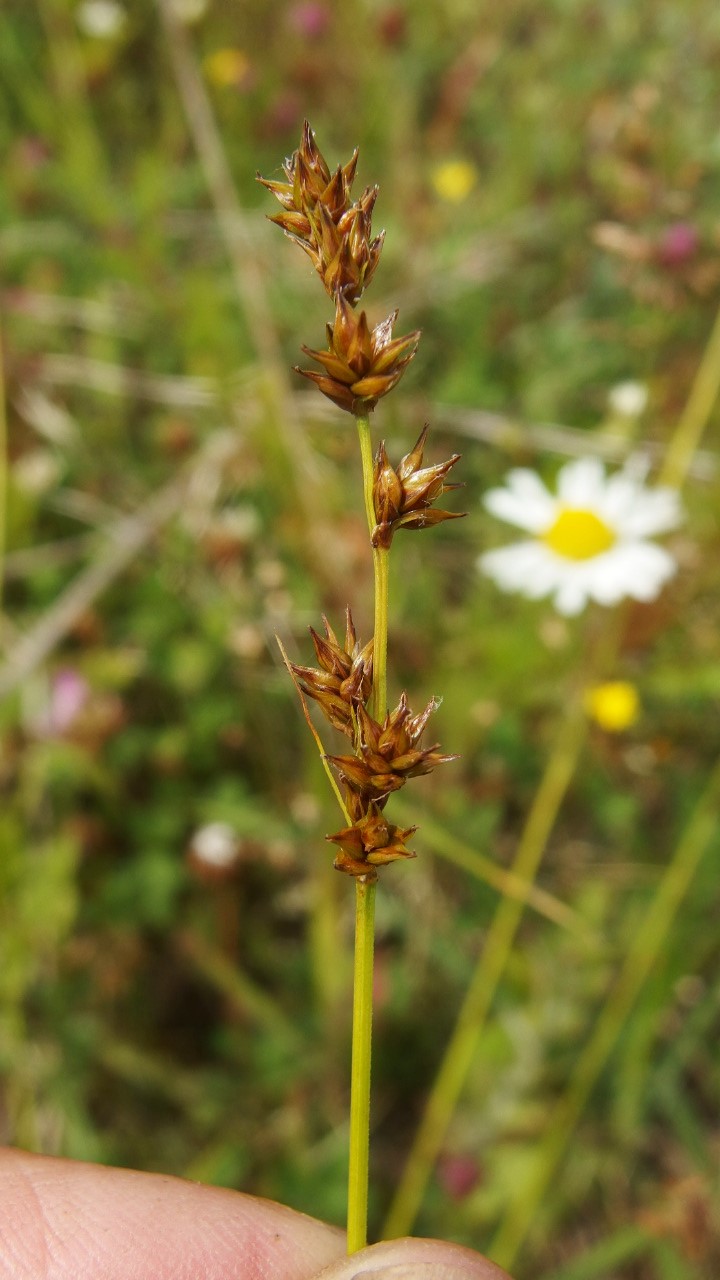
M 419 858 L 382 877 L 373 1234 L 498 905 L 474 855 L 510 864 L 609 628 L 641 704 L 588 723 L 539 873 L 569 910 L 523 916 L 415 1224 L 489 1248 L 720 751 L 716 416 L 678 576 L 611 620 L 483 580 L 482 493 L 662 458 L 720 297 L 720 10 L 5 0 L 0 28 L 0 1135 L 343 1221 L 352 888 L 274 635 L 310 662 L 350 600 L 365 639 L 372 571 L 354 425 L 290 372 L 328 300 L 255 182 L 307 116 L 380 186 L 364 305 L 423 329 L 375 439 L 428 420 L 469 512 L 393 545 L 391 696 L 442 695 L 461 759 L 404 794 Z M 518 1280 L 720 1272 L 719 849 Z

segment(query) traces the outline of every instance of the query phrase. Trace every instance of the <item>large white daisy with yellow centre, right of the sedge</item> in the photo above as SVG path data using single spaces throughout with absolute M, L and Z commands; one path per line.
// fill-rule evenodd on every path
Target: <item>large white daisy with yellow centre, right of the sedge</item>
M 674 558 L 648 541 L 680 524 L 675 489 L 648 489 L 633 462 L 606 476 L 597 458 L 568 462 L 552 494 L 534 471 L 518 467 L 484 498 L 493 516 L 530 536 L 486 552 L 478 564 L 503 591 L 579 613 L 588 600 L 653 600 L 675 572 Z

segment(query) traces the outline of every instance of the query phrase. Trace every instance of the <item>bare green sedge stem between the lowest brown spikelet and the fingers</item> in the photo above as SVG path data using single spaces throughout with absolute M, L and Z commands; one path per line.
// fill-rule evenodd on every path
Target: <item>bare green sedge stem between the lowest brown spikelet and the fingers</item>
M 357 879 L 355 892 L 352 1076 L 350 1085 L 350 1164 L 347 1178 L 348 1253 L 356 1253 L 357 1249 L 363 1249 L 368 1243 L 375 881 Z

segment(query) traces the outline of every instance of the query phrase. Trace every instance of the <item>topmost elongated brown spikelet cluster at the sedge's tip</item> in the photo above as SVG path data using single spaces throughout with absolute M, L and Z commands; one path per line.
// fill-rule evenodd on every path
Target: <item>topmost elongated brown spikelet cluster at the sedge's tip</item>
M 372 236 L 378 188 L 366 187 L 360 200 L 351 198 L 356 168 L 357 151 L 331 174 L 305 120 L 300 147 L 283 164 L 287 182 L 258 174 L 283 206 L 270 221 L 305 250 L 329 296 L 342 293 L 351 305 L 370 283 L 384 238 L 384 232 Z

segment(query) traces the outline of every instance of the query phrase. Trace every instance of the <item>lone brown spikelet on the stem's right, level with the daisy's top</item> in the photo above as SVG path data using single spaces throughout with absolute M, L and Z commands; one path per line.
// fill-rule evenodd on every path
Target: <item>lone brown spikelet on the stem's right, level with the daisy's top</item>
M 427 435 L 425 425 L 410 453 L 401 458 L 397 470 L 388 461 L 384 440 L 378 448 L 373 477 L 377 520 L 373 530 L 374 547 L 387 549 L 397 529 L 428 529 L 443 520 L 459 520 L 465 515 L 459 511 L 438 511 L 433 507 L 441 494 L 462 488 L 459 484 L 445 483 L 447 472 L 455 466 L 460 454 L 454 453 L 446 462 L 423 467 Z

